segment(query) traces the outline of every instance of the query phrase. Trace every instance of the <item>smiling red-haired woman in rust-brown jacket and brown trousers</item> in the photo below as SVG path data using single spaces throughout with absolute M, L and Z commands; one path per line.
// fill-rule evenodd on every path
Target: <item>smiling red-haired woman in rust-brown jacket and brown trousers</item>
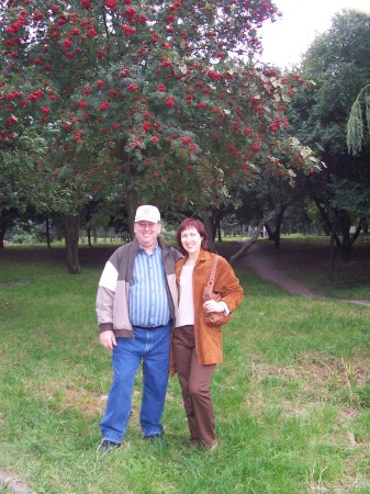
M 179 310 L 172 332 L 172 374 L 178 373 L 190 429 L 190 442 L 210 449 L 217 446 L 211 397 L 215 364 L 223 361 L 221 326 L 204 323 L 205 312 L 233 312 L 243 299 L 243 288 L 229 263 L 218 256 L 213 290 L 221 302 L 203 303 L 203 289 L 215 254 L 206 250 L 204 225 L 186 218 L 177 231 L 179 249 L 186 255 L 176 262 Z

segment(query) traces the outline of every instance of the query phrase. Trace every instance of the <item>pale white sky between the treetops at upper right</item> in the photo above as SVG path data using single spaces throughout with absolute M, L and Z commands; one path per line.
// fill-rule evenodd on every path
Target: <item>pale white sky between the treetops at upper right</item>
M 314 38 L 330 27 L 335 13 L 351 9 L 370 15 L 370 0 L 274 0 L 273 3 L 282 16 L 274 23 L 267 21 L 260 30 L 261 58 L 280 68 L 299 64 Z

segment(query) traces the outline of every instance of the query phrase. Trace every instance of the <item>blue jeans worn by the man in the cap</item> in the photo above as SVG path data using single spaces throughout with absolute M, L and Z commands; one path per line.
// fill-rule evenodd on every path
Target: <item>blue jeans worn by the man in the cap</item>
M 157 329 L 134 327 L 134 337 L 117 338 L 113 348 L 113 383 L 109 392 L 105 414 L 100 423 L 104 437 L 121 442 L 128 424 L 136 371 L 143 360 L 143 396 L 139 414 L 145 436 L 161 434 L 169 374 L 170 326 Z

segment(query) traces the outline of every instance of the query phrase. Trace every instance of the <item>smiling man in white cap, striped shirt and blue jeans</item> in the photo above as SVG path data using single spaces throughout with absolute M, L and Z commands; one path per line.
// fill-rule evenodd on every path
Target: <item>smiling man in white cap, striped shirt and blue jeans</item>
M 139 422 L 145 439 L 160 438 L 168 373 L 170 329 L 175 323 L 175 262 L 182 256 L 159 237 L 160 213 L 142 205 L 135 238 L 117 248 L 102 272 L 97 315 L 100 343 L 112 350 L 113 383 L 100 423 L 108 452 L 121 446 L 132 408 L 135 374 L 143 361 Z

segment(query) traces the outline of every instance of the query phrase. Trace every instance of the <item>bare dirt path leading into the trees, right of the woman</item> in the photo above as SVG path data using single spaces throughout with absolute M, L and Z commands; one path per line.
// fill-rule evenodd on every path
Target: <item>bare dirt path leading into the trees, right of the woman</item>
M 273 259 L 266 255 L 258 242 L 254 244 L 242 260 L 255 274 L 259 276 L 266 281 L 281 287 L 285 292 L 292 295 L 311 296 L 315 299 L 326 299 L 318 293 L 313 292 L 309 287 L 298 280 L 293 280 L 283 270 L 281 270 Z M 370 306 L 370 301 L 367 300 L 341 300 L 356 305 Z

